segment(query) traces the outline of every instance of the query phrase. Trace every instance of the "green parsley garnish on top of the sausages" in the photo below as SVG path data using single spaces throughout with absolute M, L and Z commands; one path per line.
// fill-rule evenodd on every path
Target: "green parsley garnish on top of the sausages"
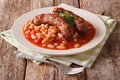
M 74 17 L 69 14 L 69 12 L 65 11 L 59 14 L 59 16 L 63 17 L 66 22 L 68 22 L 71 26 L 75 25 Z

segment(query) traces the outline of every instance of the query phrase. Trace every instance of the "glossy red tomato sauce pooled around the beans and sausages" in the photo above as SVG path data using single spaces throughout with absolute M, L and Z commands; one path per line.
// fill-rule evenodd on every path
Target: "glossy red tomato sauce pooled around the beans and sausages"
M 95 33 L 96 33 L 95 28 L 94 28 L 93 25 L 90 24 L 89 22 L 86 22 L 86 23 L 87 23 L 87 25 L 88 25 L 88 27 L 89 27 L 88 32 L 87 32 L 85 35 L 79 35 L 79 36 L 77 37 L 77 39 L 78 39 L 77 42 L 75 42 L 75 41 L 73 41 L 73 40 L 66 40 L 66 42 L 67 42 L 67 44 L 66 44 L 66 49 L 75 48 L 74 45 L 75 45 L 76 43 L 79 43 L 80 46 L 83 46 L 83 45 L 87 44 L 88 42 L 90 42 L 90 41 L 94 38 Z M 24 28 L 25 28 L 25 26 L 24 26 Z M 34 45 L 36 45 L 36 46 L 39 46 L 39 47 L 43 47 L 43 46 L 42 46 L 42 43 L 41 43 L 41 41 L 42 41 L 41 39 L 35 39 L 35 40 L 33 40 L 33 39 L 31 38 L 31 34 L 30 34 L 30 33 L 35 34 L 36 31 L 33 31 L 33 29 L 24 29 L 24 28 L 23 28 L 23 33 L 24 33 L 24 35 L 25 35 L 25 38 L 26 38 L 28 41 L 30 41 L 32 44 L 34 44 Z M 28 34 L 26 34 L 26 33 L 25 33 L 26 30 L 29 30 L 30 32 L 29 32 Z M 61 40 L 56 39 L 56 40 L 54 40 L 54 41 L 51 42 L 51 44 L 54 44 L 54 43 L 60 44 L 60 43 L 61 43 Z M 47 46 L 44 46 L 43 48 L 48 48 L 48 47 L 47 47 Z M 49 49 L 51 49 L 51 48 L 49 48 Z M 59 49 L 57 49 L 56 47 L 55 47 L 55 48 L 52 48 L 52 49 L 59 50 Z

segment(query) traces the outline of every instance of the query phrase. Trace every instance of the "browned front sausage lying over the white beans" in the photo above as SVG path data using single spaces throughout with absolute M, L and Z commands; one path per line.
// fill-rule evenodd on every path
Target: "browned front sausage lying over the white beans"
M 60 29 L 62 35 L 68 39 L 71 39 L 75 32 L 75 27 L 70 26 L 62 17 L 55 14 L 37 15 L 32 19 L 32 23 L 35 25 L 46 23 L 57 26 Z

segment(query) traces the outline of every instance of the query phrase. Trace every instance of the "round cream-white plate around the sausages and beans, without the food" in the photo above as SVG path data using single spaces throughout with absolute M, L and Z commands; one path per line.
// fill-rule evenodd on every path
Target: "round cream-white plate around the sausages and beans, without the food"
M 12 27 L 12 31 L 13 31 L 13 35 L 14 35 L 15 39 L 20 44 L 22 44 L 23 46 L 25 46 L 26 48 L 28 48 L 32 51 L 36 51 L 36 52 L 40 52 L 40 53 L 48 54 L 48 55 L 63 56 L 63 55 L 78 54 L 78 53 L 87 51 L 89 49 L 92 49 L 93 47 L 98 45 L 105 37 L 106 27 L 105 27 L 104 23 L 96 15 L 94 15 L 91 12 L 82 10 L 82 9 L 73 8 L 73 7 L 64 7 L 65 9 L 74 12 L 75 14 L 83 17 L 85 20 L 87 20 L 93 24 L 93 26 L 96 29 L 96 35 L 90 42 L 88 42 L 87 44 L 83 45 L 80 48 L 74 48 L 74 49 L 68 49 L 68 50 L 50 50 L 50 49 L 38 47 L 38 46 L 32 44 L 31 42 L 29 42 L 28 40 L 26 40 L 24 37 L 23 31 L 22 31 L 23 25 L 28 20 L 30 20 L 31 18 L 33 18 L 34 16 L 36 16 L 38 14 L 52 12 L 53 8 L 54 7 L 40 8 L 40 9 L 33 10 L 31 12 L 28 12 L 28 13 L 20 16 L 14 22 L 13 27 Z

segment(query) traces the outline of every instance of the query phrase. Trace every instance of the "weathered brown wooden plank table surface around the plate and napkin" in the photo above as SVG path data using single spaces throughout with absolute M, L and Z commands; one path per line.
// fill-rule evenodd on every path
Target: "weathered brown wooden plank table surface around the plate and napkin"
M 36 65 L 13 54 L 15 47 L 0 38 L 0 80 L 120 80 L 120 0 L 0 0 L 0 32 L 22 14 L 67 3 L 118 21 L 92 68 L 68 76 L 55 67 Z

